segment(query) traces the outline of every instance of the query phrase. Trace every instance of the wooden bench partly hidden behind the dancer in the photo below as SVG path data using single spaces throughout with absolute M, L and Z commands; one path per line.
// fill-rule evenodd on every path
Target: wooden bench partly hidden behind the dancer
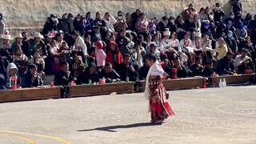
M 203 78 L 178 78 L 178 79 L 168 79 L 165 80 L 163 85 L 166 87 L 166 90 L 184 90 L 184 89 L 193 89 L 202 86 Z M 138 92 L 144 92 L 146 82 L 138 81 L 137 90 Z

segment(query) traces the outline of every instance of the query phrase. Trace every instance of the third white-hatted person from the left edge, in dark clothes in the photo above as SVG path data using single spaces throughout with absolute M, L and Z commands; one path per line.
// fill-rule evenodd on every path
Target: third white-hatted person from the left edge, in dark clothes
M 34 38 L 30 38 L 30 46 L 28 48 L 29 51 L 29 58 L 34 55 L 34 51 L 38 50 L 39 54 L 42 56 L 42 58 L 46 58 L 48 55 L 48 52 L 46 50 L 46 44 L 42 41 L 42 34 L 40 33 L 34 33 Z

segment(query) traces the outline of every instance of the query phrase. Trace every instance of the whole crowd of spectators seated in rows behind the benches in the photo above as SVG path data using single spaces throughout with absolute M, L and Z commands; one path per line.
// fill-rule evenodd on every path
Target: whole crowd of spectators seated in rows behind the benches
M 148 19 L 142 10 L 124 14 L 90 12 L 50 14 L 41 33 L 32 38 L 10 33 L 0 42 L 0 86 L 10 88 L 10 77 L 22 87 L 40 86 L 54 74 L 54 85 L 142 80 L 149 65 L 144 57 L 154 54 L 171 78 L 209 77 L 216 73 L 243 74 L 254 70 L 256 15 L 242 16 L 242 3 L 232 2 L 227 15 L 220 3 L 195 10 L 191 3 L 182 15 Z M 2 14 L 1 17 L 2 18 Z

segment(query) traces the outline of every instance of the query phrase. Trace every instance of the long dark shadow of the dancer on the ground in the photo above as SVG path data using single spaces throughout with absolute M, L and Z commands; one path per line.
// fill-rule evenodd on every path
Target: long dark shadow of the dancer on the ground
M 78 130 L 78 131 L 102 130 L 102 131 L 108 131 L 108 132 L 117 132 L 116 129 L 127 129 L 127 128 L 145 127 L 145 126 L 156 126 L 156 125 L 152 124 L 151 122 L 145 122 L 145 123 L 134 123 L 130 125 L 105 126 L 105 127 L 98 127 L 95 129 Z

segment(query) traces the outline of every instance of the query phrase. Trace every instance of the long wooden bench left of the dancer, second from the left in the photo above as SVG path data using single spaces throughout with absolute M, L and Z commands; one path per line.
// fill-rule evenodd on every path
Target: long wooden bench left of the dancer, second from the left
M 94 95 L 134 93 L 134 82 L 106 83 L 102 85 L 65 86 L 66 94 L 72 97 L 85 97 Z

